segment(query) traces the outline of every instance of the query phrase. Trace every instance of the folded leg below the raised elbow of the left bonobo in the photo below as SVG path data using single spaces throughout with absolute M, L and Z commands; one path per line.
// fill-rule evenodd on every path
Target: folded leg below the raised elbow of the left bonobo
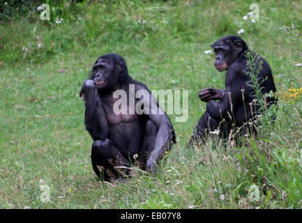
M 91 148 L 92 167 L 98 177 L 109 181 L 114 178 L 123 178 L 129 173 L 128 160 L 115 148 L 110 139 L 96 140 Z

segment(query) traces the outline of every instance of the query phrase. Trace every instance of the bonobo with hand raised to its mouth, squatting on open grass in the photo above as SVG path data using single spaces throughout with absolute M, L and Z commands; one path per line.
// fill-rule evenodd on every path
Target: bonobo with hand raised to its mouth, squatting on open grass
M 115 96 L 119 91 L 126 98 L 116 106 L 121 100 Z M 139 92 L 143 93 L 137 98 Z M 91 162 L 96 175 L 103 180 L 123 178 L 130 174 L 129 167 L 135 162 L 142 169 L 156 172 L 157 162 L 175 142 L 174 129 L 149 89 L 128 75 L 123 57 L 100 56 L 91 77 L 82 85 L 81 96 L 84 123 L 93 139 Z M 154 105 L 156 108 L 150 112 Z M 121 107 L 124 112 L 119 112 Z

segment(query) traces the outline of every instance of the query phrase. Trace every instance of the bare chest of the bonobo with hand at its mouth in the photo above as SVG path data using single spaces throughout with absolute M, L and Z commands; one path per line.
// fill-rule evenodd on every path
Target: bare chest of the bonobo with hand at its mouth
M 138 121 L 139 116 L 135 111 L 129 110 L 128 97 L 121 100 L 121 98 L 113 98 L 112 94 L 100 95 L 103 109 L 106 114 L 107 122 L 110 125 L 119 125 L 120 123 L 132 123 Z M 133 109 L 135 106 L 131 106 Z

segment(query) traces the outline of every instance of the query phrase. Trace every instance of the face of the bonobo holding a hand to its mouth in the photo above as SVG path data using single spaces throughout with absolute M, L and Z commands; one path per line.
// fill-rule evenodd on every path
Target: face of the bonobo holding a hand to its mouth
M 115 86 L 119 79 L 114 61 L 100 57 L 93 65 L 93 81 L 98 89 L 110 89 Z

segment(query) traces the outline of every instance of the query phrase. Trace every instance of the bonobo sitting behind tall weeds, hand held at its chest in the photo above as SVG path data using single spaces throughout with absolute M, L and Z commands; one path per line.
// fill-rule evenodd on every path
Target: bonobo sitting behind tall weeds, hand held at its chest
M 244 123 L 259 113 L 259 105 L 250 106 L 253 100 L 255 102 L 256 96 L 254 89 L 250 86 L 250 76 L 244 72 L 244 70 L 250 70 L 246 57 L 248 45 L 239 36 L 224 36 L 211 47 L 216 54 L 214 63 L 216 69 L 220 72 L 227 70 L 225 89 L 207 88 L 199 92 L 200 100 L 206 102 L 206 112 L 199 119 L 189 144 L 203 143 L 206 135 L 213 130 L 220 130 L 219 134 L 223 139 L 229 137 L 232 128 L 236 128 L 234 132 L 239 128 L 239 132 L 243 133 L 245 131 L 243 127 L 246 126 Z M 257 83 L 260 84 L 259 89 L 262 95 L 270 91 L 275 92 L 269 63 L 261 57 L 259 61 L 262 61 L 262 68 L 259 70 Z M 265 100 L 268 107 L 276 102 L 273 97 Z

